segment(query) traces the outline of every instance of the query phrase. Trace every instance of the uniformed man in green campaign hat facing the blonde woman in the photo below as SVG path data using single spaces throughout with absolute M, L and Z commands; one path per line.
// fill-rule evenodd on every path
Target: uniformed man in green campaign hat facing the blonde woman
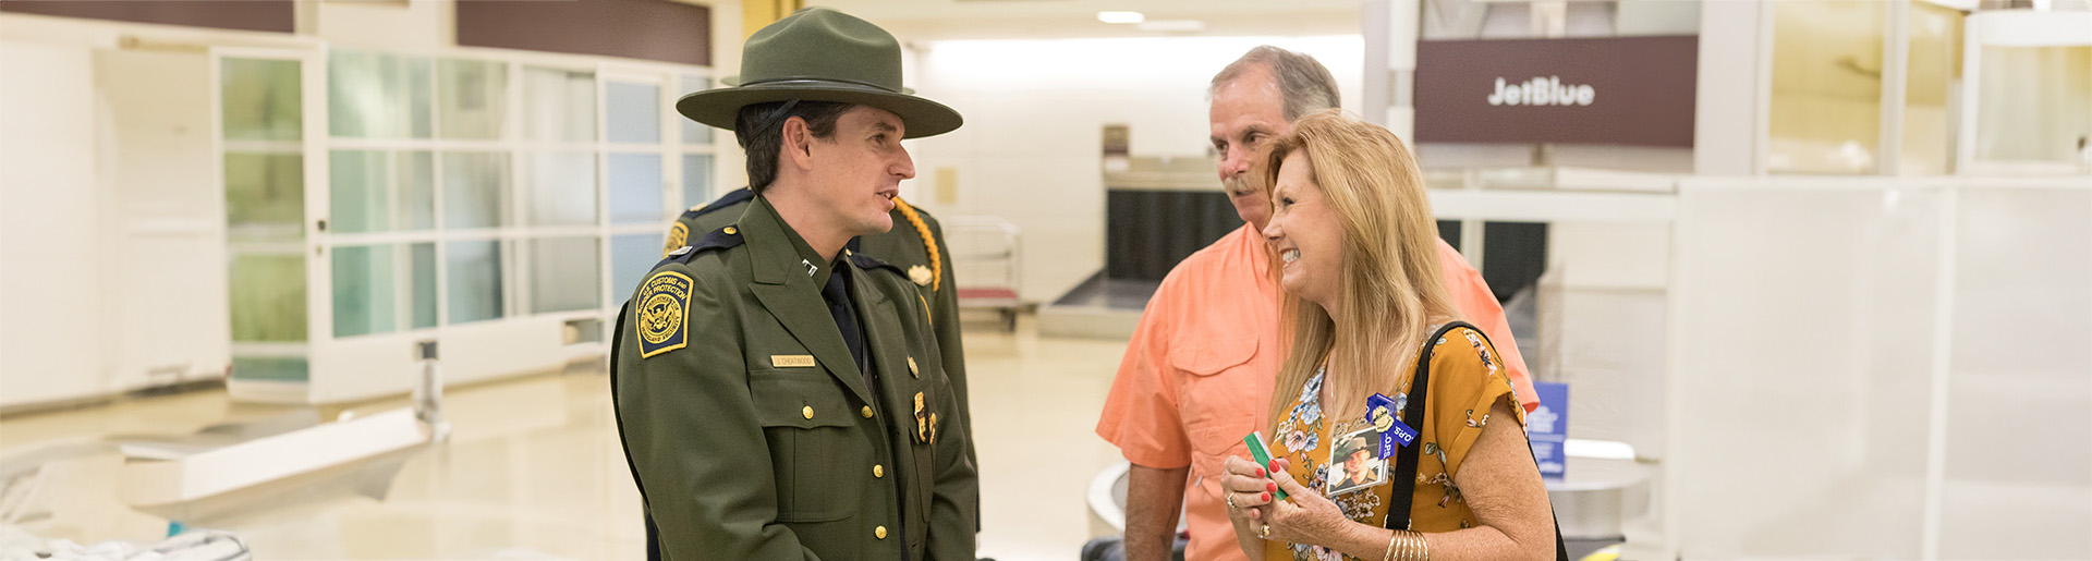
M 979 479 L 925 287 L 845 245 L 893 228 L 902 138 L 960 126 L 900 88 L 885 29 L 810 8 L 676 109 L 734 128 L 751 201 L 617 318 L 611 389 L 649 559 L 975 559 Z

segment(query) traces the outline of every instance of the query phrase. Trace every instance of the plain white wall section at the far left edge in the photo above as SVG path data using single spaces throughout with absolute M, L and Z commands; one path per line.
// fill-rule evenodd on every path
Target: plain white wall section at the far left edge
M 94 57 L 0 42 L 0 404 L 84 398 L 109 381 L 94 216 Z

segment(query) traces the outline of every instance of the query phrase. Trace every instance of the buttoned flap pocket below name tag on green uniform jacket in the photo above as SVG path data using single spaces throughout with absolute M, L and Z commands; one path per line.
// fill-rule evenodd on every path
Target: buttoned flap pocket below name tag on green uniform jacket
M 833 521 L 858 511 L 870 442 L 849 396 L 826 373 L 749 373 L 755 421 L 770 444 L 778 521 Z M 862 469 L 858 467 L 862 463 Z

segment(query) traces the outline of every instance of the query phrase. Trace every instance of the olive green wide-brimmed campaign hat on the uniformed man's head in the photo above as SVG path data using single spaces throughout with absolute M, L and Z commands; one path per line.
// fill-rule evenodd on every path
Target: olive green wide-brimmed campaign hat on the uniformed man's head
M 946 134 L 964 121 L 952 107 L 902 88 L 902 44 L 893 33 L 831 8 L 805 8 L 755 31 L 741 48 L 741 75 L 720 82 L 728 86 L 690 92 L 676 111 L 732 130 L 741 107 L 755 103 L 856 103 L 900 115 L 906 138 Z

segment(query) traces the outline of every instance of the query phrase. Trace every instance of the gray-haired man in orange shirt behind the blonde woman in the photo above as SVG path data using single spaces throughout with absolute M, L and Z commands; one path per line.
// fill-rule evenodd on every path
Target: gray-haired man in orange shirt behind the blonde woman
M 1125 559 L 1169 559 L 1178 507 L 1190 521 L 1186 559 L 1245 559 L 1220 494 L 1222 463 L 1249 456 L 1243 435 L 1264 421 L 1280 356 L 1278 280 L 1257 234 L 1272 216 L 1264 159 L 1293 119 L 1337 107 L 1337 80 L 1308 54 L 1257 46 L 1207 90 L 1220 180 L 1249 222 L 1184 257 L 1149 299 L 1105 398 L 1096 433 L 1119 446 Z M 1525 358 L 1490 285 L 1439 241 L 1446 291 L 1496 343 L 1525 410 L 1538 406 Z

